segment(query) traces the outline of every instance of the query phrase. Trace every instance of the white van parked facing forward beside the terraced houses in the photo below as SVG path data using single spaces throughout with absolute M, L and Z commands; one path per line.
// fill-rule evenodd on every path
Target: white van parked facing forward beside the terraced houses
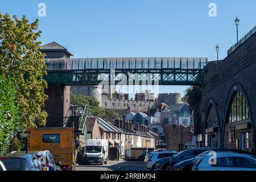
M 88 139 L 84 150 L 84 163 L 103 163 L 107 164 L 109 156 L 108 140 L 104 139 Z

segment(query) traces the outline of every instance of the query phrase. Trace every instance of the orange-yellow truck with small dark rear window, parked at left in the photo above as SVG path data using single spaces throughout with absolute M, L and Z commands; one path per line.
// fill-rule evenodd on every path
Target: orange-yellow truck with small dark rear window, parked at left
M 29 128 L 28 151 L 49 150 L 64 170 L 75 170 L 75 143 L 73 127 Z

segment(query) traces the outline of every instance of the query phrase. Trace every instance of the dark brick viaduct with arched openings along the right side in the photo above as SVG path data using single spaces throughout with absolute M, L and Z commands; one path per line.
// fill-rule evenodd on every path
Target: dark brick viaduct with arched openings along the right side
M 204 69 L 203 80 L 200 102 L 201 122 L 204 125 L 201 135 L 203 146 L 210 146 L 209 135 L 215 134 L 216 146 L 241 149 L 242 134 L 245 132 L 249 145 L 247 150 L 255 152 L 256 34 L 251 35 L 224 60 L 210 61 Z M 249 119 L 229 123 L 230 104 L 237 92 L 245 98 Z M 217 126 L 207 130 L 210 106 L 216 108 Z

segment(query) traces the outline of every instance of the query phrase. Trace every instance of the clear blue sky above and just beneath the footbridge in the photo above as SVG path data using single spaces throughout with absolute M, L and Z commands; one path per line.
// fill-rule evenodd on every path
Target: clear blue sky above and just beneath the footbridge
M 46 4 L 46 17 L 38 4 Z M 208 15 L 216 3 L 217 16 Z M 1 13 L 39 18 L 43 44 L 55 41 L 74 57 L 208 57 L 220 59 L 236 42 L 234 19 L 240 18 L 239 37 L 256 25 L 255 0 L 84 0 L 2 1 Z M 160 93 L 180 92 L 187 86 L 160 86 Z

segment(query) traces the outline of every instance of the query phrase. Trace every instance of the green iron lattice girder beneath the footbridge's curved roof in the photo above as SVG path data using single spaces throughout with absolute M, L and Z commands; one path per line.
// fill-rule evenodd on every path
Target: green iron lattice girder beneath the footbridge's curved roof
M 48 71 L 48 84 L 200 85 L 202 69 Z

